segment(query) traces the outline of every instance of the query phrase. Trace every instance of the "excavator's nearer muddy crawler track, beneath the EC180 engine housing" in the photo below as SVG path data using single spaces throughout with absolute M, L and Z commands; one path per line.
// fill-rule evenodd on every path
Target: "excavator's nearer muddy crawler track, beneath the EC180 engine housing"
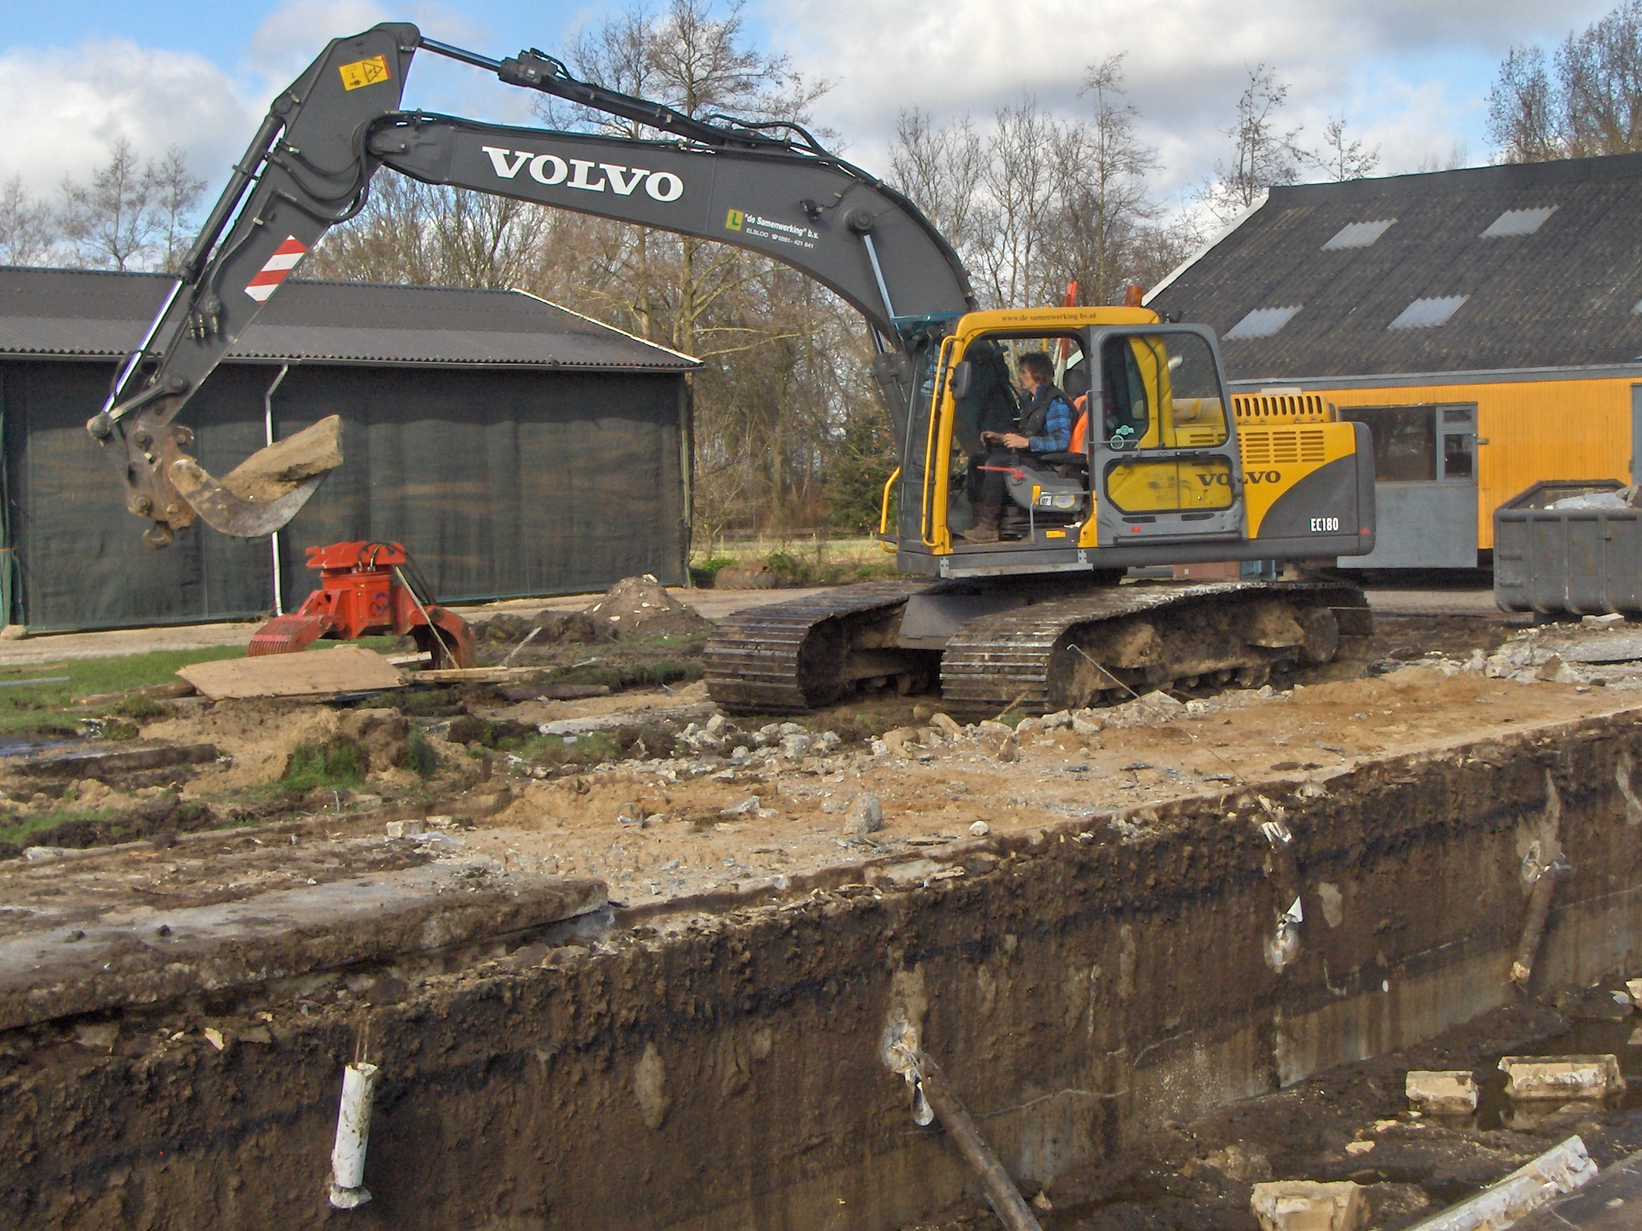
M 954 712 L 1044 714 L 1167 686 L 1258 686 L 1273 671 L 1340 675 L 1371 634 L 1350 584 L 1113 586 L 964 624 L 941 655 L 941 698 Z

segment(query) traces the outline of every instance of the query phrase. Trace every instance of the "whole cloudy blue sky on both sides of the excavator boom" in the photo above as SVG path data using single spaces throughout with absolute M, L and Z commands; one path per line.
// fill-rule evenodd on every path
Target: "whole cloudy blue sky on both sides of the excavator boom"
M 988 115 L 1025 92 L 1053 110 L 1080 107 L 1087 64 L 1126 53 L 1130 94 L 1163 154 L 1163 194 L 1189 192 L 1225 153 L 1218 130 L 1266 61 L 1291 85 L 1302 143 L 1343 115 L 1381 171 L 1470 162 L 1484 136 L 1488 87 L 1514 43 L 1552 44 L 1612 0 L 749 0 L 752 34 L 836 85 L 818 120 L 862 166 L 887 167 L 903 107 Z M 0 25 L 0 181 L 38 195 L 85 176 L 118 136 L 143 154 L 187 151 L 215 189 L 266 100 L 323 39 L 379 20 L 412 20 L 430 38 L 491 56 L 555 51 L 609 3 L 527 0 L 10 0 Z M 475 69 L 424 56 L 406 103 L 476 118 L 529 120 L 529 98 Z

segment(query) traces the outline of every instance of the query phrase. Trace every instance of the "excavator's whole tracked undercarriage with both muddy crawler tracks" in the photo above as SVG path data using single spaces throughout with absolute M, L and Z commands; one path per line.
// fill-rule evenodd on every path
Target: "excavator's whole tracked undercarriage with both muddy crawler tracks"
M 954 714 L 1044 714 L 1353 671 L 1371 634 L 1340 583 L 883 581 L 729 616 L 706 680 L 737 714 L 936 684 Z

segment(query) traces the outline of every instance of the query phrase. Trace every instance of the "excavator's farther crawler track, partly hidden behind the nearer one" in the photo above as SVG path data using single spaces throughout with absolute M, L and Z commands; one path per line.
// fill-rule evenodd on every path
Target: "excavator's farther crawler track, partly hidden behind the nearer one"
M 732 612 L 703 652 L 708 691 L 732 714 L 801 714 L 837 701 L 862 678 L 847 675 L 847 658 L 880 655 L 880 661 L 867 663 L 867 678 L 900 676 L 911 683 L 920 668 L 933 675 L 928 653 L 852 650 L 864 625 L 893 617 L 908 597 L 929 586 L 910 578 L 869 581 Z

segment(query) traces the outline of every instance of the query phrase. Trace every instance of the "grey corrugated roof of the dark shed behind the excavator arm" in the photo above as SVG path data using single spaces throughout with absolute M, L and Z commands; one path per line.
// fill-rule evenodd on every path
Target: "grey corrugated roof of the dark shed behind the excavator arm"
M 0 356 L 122 358 L 171 279 L 0 266 Z M 519 291 L 289 281 L 228 361 L 686 371 L 678 351 Z

